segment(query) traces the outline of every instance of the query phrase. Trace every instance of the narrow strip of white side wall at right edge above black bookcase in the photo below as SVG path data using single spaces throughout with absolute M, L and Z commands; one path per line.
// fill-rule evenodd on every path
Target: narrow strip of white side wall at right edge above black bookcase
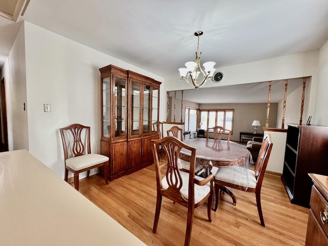
M 316 108 L 311 123 L 328 126 L 328 40 L 319 51 Z

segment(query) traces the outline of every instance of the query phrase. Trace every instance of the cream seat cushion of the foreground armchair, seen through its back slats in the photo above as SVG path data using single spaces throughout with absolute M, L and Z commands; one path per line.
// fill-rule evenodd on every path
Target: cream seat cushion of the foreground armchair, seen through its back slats
M 182 178 L 182 187 L 181 187 L 180 193 L 184 198 L 188 199 L 189 173 L 180 171 L 180 175 L 181 175 L 181 178 Z M 195 178 L 197 178 L 198 180 L 203 180 L 204 179 L 204 178 L 198 177 L 198 176 L 195 176 Z M 164 177 L 162 179 L 162 188 L 163 189 L 168 189 L 169 188 L 166 177 Z M 204 186 L 194 185 L 195 203 L 199 202 L 201 199 L 206 197 L 210 193 L 210 191 L 211 191 L 210 182 L 208 182 Z

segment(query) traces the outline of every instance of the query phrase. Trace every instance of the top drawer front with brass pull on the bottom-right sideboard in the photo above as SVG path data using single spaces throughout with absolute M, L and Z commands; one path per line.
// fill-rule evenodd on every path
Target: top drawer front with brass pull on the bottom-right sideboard
M 319 191 L 312 187 L 310 207 L 313 211 L 315 217 L 318 219 L 321 228 L 328 235 L 328 221 L 326 223 L 322 222 L 321 217 L 323 217 L 323 212 L 328 213 L 328 202 L 324 199 L 324 197 L 319 193 Z

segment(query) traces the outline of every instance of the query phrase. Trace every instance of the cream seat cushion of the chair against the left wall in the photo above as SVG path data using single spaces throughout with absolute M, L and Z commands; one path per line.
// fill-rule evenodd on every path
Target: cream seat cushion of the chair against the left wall
M 91 166 L 97 165 L 99 163 L 108 161 L 109 158 L 105 155 L 99 154 L 87 154 L 87 155 L 80 155 L 72 158 L 66 159 L 65 163 L 66 166 L 78 171 L 84 168 L 89 168 Z

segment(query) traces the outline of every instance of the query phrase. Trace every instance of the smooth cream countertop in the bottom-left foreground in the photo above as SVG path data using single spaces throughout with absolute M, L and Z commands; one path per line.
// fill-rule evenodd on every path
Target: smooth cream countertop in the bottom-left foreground
M 146 245 L 26 150 L 0 153 L 0 245 Z

